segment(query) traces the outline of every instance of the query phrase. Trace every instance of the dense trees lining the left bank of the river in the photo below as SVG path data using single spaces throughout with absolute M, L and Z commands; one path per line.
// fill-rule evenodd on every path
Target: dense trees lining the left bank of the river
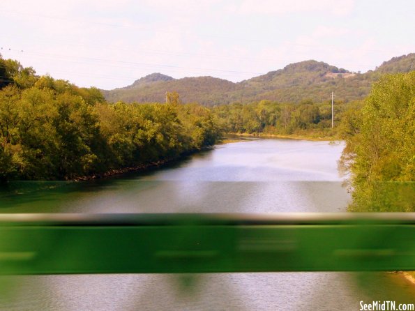
M 0 59 L 0 180 L 79 179 L 146 167 L 215 144 L 209 109 L 106 103 L 96 88 L 36 75 Z

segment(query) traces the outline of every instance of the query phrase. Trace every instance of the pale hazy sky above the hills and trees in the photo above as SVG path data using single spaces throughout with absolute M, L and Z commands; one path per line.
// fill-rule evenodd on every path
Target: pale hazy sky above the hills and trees
M 364 73 L 415 52 L 415 1 L 5 0 L 0 27 L 4 59 L 78 86 L 239 82 L 308 59 Z

